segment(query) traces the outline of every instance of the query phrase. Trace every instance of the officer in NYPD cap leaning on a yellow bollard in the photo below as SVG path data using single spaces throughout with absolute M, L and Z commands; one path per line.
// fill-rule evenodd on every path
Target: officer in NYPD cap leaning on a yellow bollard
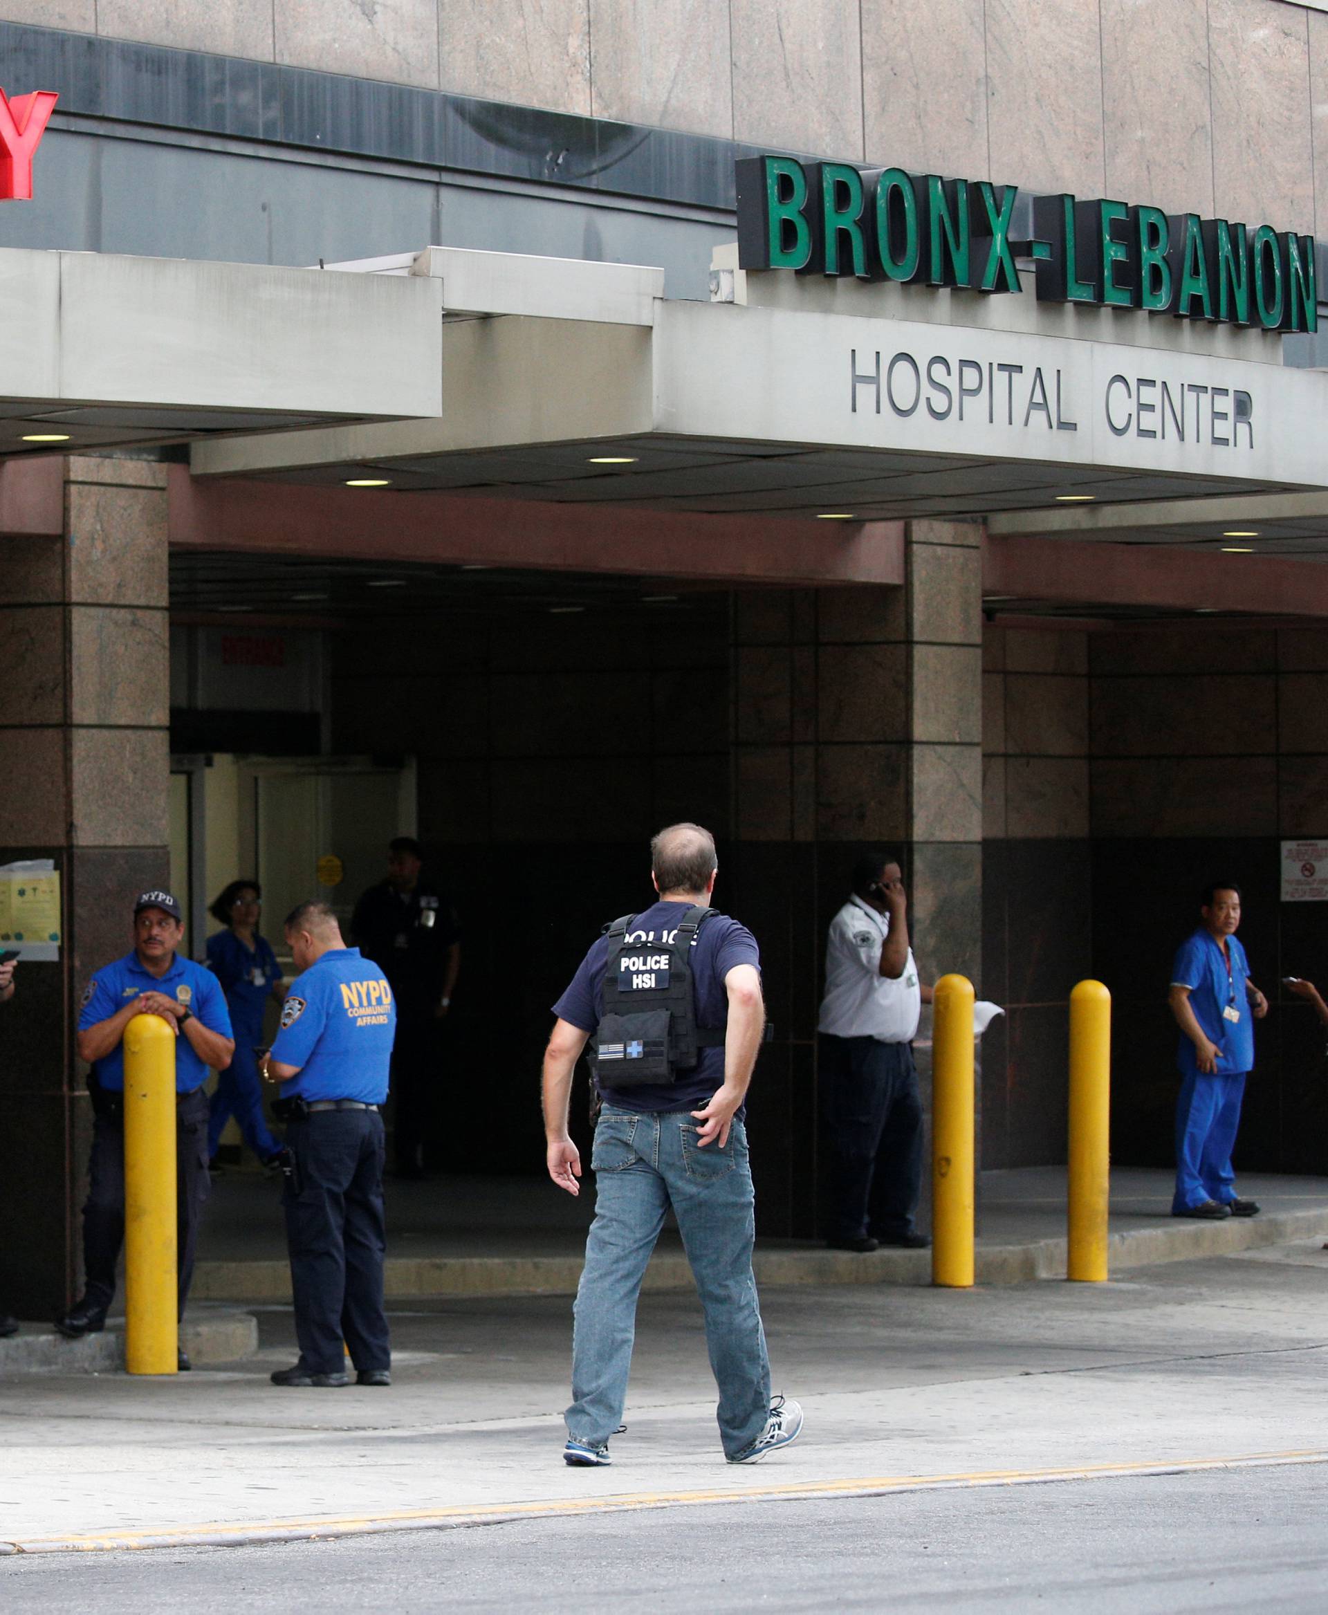
M 160 1016 L 176 1034 L 176 1185 L 179 1311 L 194 1274 L 199 1218 L 207 1200 L 207 1082 L 234 1053 L 231 1019 L 216 977 L 176 951 L 184 914 L 170 891 L 144 891 L 134 903 L 134 946 L 97 971 L 82 995 L 79 1059 L 92 1064 L 90 1187 L 82 1208 L 82 1298 L 55 1321 L 78 1339 L 105 1328 L 115 1297 L 115 1265 L 124 1242 L 124 1027 L 137 1014 Z M 179 1366 L 189 1358 L 179 1353 Z

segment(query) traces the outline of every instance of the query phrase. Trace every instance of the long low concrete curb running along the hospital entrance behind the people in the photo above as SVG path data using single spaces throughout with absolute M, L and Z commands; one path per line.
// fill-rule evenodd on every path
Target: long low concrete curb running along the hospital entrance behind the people
M 1225 1223 L 1158 1219 L 1150 1227 L 1123 1229 L 1108 1240 L 1110 1269 L 1144 1268 L 1155 1261 L 1225 1256 L 1259 1245 L 1328 1237 L 1328 1206 L 1317 1211 L 1280 1211 Z M 753 1258 L 756 1282 L 769 1287 L 834 1284 L 931 1284 L 929 1250 L 877 1250 L 856 1256 L 842 1250 L 761 1250 Z M 1019 1245 L 977 1244 L 977 1284 L 1028 1284 L 1063 1279 L 1066 1240 L 1040 1239 Z M 385 1271 L 389 1300 L 478 1295 L 575 1295 L 582 1276 L 580 1256 L 389 1256 Z M 658 1253 L 643 1289 L 656 1292 L 693 1289 L 687 1258 Z M 194 1292 L 200 1300 L 291 1300 L 291 1269 L 284 1261 L 200 1261 Z

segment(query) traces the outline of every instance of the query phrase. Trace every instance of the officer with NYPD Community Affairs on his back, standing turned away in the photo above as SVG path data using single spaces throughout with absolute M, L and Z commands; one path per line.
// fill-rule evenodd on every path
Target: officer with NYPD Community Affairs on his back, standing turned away
M 383 972 L 347 948 L 326 903 L 286 921 L 299 975 L 260 1071 L 281 1084 L 283 1193 L 300 1357 L 275 1386 L 391 1384 L 383 1310 L 383 1116 L 396 1005 Z

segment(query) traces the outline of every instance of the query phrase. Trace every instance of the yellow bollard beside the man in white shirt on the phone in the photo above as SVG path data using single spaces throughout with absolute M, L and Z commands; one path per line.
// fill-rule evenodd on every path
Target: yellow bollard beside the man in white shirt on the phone
M 973 982 L 942 975 L 932 1022 L 932 1284 L 973 1284 Z

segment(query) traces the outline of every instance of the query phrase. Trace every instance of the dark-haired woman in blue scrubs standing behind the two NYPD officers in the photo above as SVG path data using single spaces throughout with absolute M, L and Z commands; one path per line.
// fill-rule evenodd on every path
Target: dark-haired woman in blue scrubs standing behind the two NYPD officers
M 281 966 L 267 940 L 258 935 L 262 891 L 257 880 L 233 880 L 208 912 L 226 929 L 207 940 L 207 967 L 221 984 L 236 1053 L 216 1079 L 207 1129 L 207 1153 L 216 1158 L 216 1145 L 226 1122 L 234 1116 L 249 1148 L 267 1166 L 281 1153 L 281 1143 L 268 1130 L 263 1118 L 263 1089 L 254 1059 L 254 1045 L 263 1042 L 263 1008 L 268 998 L 286 996 Z

